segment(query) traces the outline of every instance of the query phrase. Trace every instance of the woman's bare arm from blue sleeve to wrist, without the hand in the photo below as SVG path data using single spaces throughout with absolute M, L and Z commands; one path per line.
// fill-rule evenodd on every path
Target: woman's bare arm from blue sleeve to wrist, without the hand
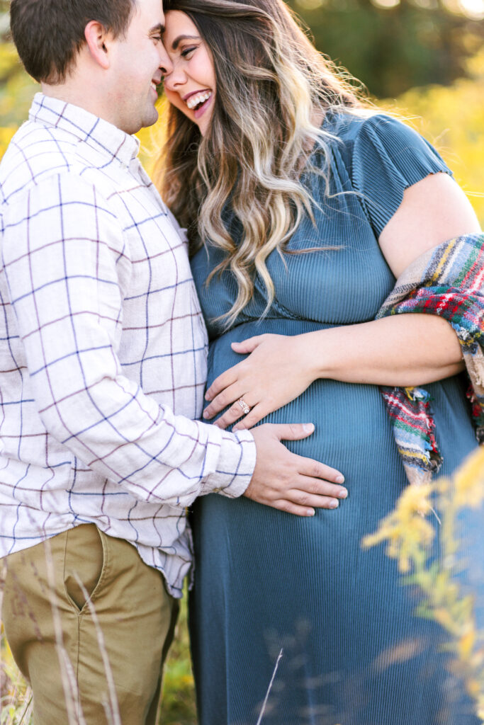
M 475 212 L 462 189 L 448 174 L 438 173 L 406 189 L 379 243 L 398 278 L 420 254 L 447 239 L 479 231 Z M 324 342 L 322 337 L 317 343 L 316 338 L 306 341 L 317 345 L 320 369 L 316 378 L 412 386 L 441 380 L 463 369 L 454 330 L 435 315 L 395 315 L 324 333 Z M 325 353 L 323 345 L 328 344 L 330 352 Z

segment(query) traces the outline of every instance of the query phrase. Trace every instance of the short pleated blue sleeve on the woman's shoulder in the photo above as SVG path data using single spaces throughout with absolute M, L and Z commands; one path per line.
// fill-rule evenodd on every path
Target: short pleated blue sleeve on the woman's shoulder
M 353 146 L 352 183 L 376 236 L 398 210 L 403 191 L 439 172 L 452 175 L 438 152 L 413 128 L 385 115 L 361 123 Z

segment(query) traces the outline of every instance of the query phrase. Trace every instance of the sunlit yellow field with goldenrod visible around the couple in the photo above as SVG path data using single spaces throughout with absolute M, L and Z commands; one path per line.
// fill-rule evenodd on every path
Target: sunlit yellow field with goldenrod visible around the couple
M 324 0 L 304 1 L 313 8 L 324 4 Z M 374 0 L 375 5 L 386 8 L 394 7 L 398 2 Z M 472 17 L 484 19 L 484 0 L 462 0 L 462 5 Z M 15 51 L 9 44 L 3 43 L 0 46 L 0 76 L 15 63 Z M 454 171 L 456 181 L 464 188 L 484 226 L 484 51 L 468 63 L 467 78 L 459 78 L 448 86 L 411 88 L 398 98 L 381 101 L 381 105 L 397 112 L 436 146 Z M 27 116 L 30 99 L 37 90 L 36 84 L 22 72 L 10 74 L 1 86 L 0 158 L 20 119 Z M 159 110 L 163 119 L 163 101 L 159 101 Z M 141 130 L 138 136 L 141 160 L 148 173 L 152 174 L 163 142 L 163 123 Z M 428 521 L 436 515 L 435 512 L 444 522 L 442 530 L 448 535 L 447 541 L 443 542 L 444 549 L 447 547 L 446 551 L 456 552 L 459 540 L 452 533 L 452 522 L 455 523 L 463 507 L 482 509 L 483 503 L 484 450 L 480 449 L 464 464 L 454 481 L 440 481 L 428 489 L 416 490 L 409 486 L 397 502 L 393 514 L 382 521 L 379 531 L 368 532 L 362 546 L 386 546 L 388 555 L 398 560 L 402 582 L 410 581 L 411 577 L 412 584 L 417 584 L 421 604 L 415 616 L 431 616 L 446 630 L 454 671 L 458 671 L 464 679 L 475 701 L 476 712 L 484 722 L 484 632 L 477 631 L 472 592 L 464 593 L 459 589 L 452 556 L 444 557 L 440 568 L 430 568 L 427 561 L 432 543 Z M 17 671 L 1 627 L 0 725 L 31 725 L 31 713 L 30 689 Z M 160 723 L 197 724 L 186 625 L 186 596 L 176 641 L 165 668 Z

